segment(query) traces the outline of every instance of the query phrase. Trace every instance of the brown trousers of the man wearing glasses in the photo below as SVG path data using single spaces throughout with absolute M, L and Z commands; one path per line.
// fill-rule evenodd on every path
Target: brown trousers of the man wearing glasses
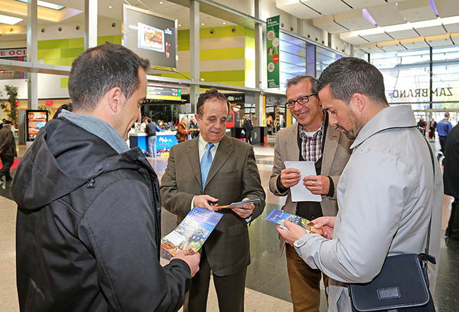
M 322 272 L 310 268 L 298 256 L 294 247 L 285 245 L 287 256 L 287 272 L 289 273 L 290 295 L 294 304 L 294 312 L 319 312 L 320 279 Z M 325 289 L 328 287 L 328 276 L 323 274 Z

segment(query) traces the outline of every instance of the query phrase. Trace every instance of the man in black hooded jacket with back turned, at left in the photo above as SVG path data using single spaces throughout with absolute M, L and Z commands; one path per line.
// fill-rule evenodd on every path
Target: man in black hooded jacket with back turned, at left
M 40 130 L 11 188 L 21 311 L 177 311 L 199 254 L 159 262 L 158 177 L 125 139 L 148 61 L 118 44 L 73 62 L 63 110 Z

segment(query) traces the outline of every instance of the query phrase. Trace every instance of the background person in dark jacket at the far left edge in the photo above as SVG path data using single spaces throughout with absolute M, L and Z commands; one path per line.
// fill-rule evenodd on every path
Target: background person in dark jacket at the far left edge
M 10 168 L 13 166 L 16 153 L 16 142 L 11 132 L 11 121 L 6 121 L 0 129 L 0 169 L 1 188 L 6 189 L 6 181 L 11 181 Z

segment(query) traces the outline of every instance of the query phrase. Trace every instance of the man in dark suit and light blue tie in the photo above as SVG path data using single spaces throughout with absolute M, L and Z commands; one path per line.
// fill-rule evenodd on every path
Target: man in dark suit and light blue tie
M 249 222 L 265 207 L 253 147 L 225 135 L 227 99 L 216 89 L 196 104 L 199 137 L 170 149 L 161 180 L 163 207 L 183 220 L 193 206 L 217 211 L 243 199 L 260 199 L 243 208 L 221 209 L 222 219 L 204 244 L 199 273 L 192 282 L 184 311 L 206 311 L 210 270 L 220 311 L 244 311 L 246 270 L 250 263 Z

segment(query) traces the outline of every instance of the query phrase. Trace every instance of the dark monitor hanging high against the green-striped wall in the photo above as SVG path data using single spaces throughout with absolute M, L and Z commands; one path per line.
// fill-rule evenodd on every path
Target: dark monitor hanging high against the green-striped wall
M 177 71 L 177 20 L 123 4 L 122 45 L 152 68 Z

